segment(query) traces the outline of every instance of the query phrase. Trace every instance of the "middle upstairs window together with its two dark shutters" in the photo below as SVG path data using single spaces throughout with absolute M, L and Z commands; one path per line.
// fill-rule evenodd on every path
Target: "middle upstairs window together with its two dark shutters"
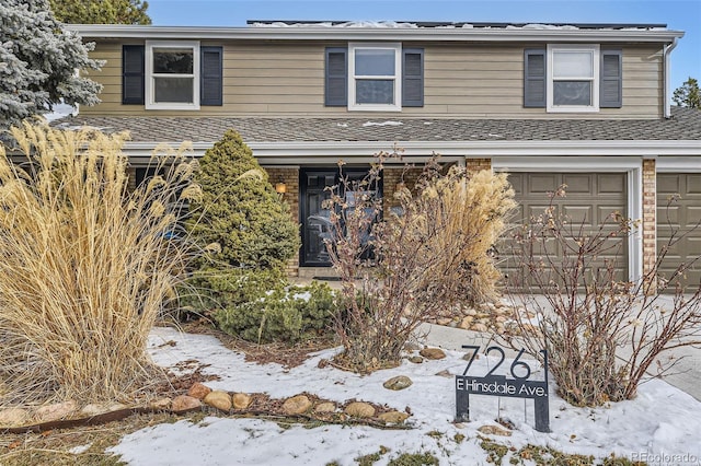
M 327 47 L 324 103 L 370 112 L 423 107 L 424 50 L 397 43 Z

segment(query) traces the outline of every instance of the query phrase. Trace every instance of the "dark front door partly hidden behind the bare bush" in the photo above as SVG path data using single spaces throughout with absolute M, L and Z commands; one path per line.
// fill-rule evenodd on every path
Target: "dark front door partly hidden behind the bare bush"
M 344 167 L 343 175 L 350 183 L 367 176 L 367 170 Z M 329 267 L 331 261 L 326 252 L 325 238 L 331 237 L 331 221 L 329 209 L 324 209 L 323 201 L 331 197 L 326 189 L 341 182 L 338 168 L 307 168 L 300 171 L 300 202 L 299 210 L 302 223 L 302 248 L 300 265 L 302 267 Z M 378 187 L 381 196 L 381 187 Z

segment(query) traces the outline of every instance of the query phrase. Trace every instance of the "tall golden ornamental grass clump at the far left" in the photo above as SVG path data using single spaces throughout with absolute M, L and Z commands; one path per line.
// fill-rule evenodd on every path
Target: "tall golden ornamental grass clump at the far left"
M 130 400 L 160 375 L 146 353 L 196 254 L 173 233 L 193 165 L 128 190 L 126 135 L 13 128 L 0 148 L 0 405 Z

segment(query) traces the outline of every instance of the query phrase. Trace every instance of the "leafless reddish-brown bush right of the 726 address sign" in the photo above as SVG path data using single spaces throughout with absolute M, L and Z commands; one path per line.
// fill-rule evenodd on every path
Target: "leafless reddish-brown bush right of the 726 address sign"
M 613 212 L 595 228 L 573 223 L 556 210 L 564 196 L 562 186 L 543 214 L 515 235 L 524 280 L 520 293 L 510 295 L 521 306 L 506 338 L 532 354 L 547 349 L 559 394 L 574 405 L 630 399 L 648 371 L 662 375 L 670 369 L 663 352 L 701 341 L 701 287 L 685 294 L 680 279 L 692 263 L 659 277 L 679 235 L 640 281 L 624 281 L 616 258 L 635 222 Z M 597 268 L 605 255 L 610 258 Z

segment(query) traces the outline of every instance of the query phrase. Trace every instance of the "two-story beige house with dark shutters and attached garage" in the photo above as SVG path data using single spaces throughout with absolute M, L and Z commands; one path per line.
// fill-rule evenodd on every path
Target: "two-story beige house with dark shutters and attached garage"
M 597 223 L 642 219 L 620 267 L 636 279 L 670 226 L 701 219 L 701 113 L 669 107 L 682 32 L 660 24 L 283 23 L 246 27 L 71 26 L 106 60 L 102 103 L 66 126 L 131 132 L 135 177 L 161 142 L 202 154 L 238 130 L 301 225 L 299 267 L 327 266 L 317 220 L 337 161 L 434 151 L 507 171 L 521 215 L 566 184 L 563 207 Z M 383 195 L 400 182 L 386 170 Z M 681 200 L 667 222 L 669 194 Z M 701 232 L 675 257 L 701 255 Z M 318 271 L 315 271 L 318 273 Z M 701 272 L 696 272 L 697 282 Z

